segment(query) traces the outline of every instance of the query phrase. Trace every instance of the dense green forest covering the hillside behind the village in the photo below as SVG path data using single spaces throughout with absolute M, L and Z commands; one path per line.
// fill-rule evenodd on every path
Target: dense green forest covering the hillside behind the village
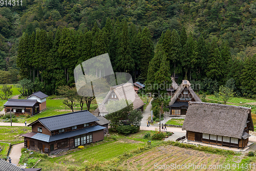
M 73 83 L 78 63 L 109 52 L 114 70 L 131 73 L 134 81 L 168 82 L 167 75 L 176 73 L 179 82 L 200 83 L 208 93 L 228 83 L 239 96 L 254 97 L 255 16 L 252 1 L 31 0 L 1 6 L 0 80 L 28 78 L 53 94 L 56 86 Z

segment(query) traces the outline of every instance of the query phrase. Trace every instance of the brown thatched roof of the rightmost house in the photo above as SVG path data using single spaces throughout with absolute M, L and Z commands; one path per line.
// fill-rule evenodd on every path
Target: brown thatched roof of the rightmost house
M 248 120 L 248 122 L 247 122 Z M 188 102 L 182 130 L 242 139 L 244 128 L 254 130 L 251 108 L 215 103 Z

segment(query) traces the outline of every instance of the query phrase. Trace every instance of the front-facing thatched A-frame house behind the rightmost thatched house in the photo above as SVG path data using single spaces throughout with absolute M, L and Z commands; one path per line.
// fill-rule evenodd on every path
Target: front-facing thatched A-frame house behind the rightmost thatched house
M 169 102 L 170 115 L 186 115 L 188 102 L 202 102 L 187 80 L 183 80 Z

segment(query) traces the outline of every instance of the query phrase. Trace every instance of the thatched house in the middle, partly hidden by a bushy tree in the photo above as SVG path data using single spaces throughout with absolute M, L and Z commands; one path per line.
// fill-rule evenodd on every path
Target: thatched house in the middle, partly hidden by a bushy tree
M 121 99 L 131 100 L 133 102 L 134 110 L 137 109 L 143 111 L 144 102 L 134 91 L 132 83 L 124 83 L 110 87 L 109 93 L 106 95 L 99 107 L 94 111 L 95 115 L 103 117 L 108 115 L 109 111 L 106 110 L 105 105 L 108 104 L 109 101 L 118 101 Z

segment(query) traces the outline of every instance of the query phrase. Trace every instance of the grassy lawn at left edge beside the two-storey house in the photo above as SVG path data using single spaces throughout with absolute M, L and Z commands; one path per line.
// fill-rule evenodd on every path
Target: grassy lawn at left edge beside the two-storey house
M 31 131 L 31 127 L 0 126 L 0 142 L 16 144 L 24 141 L 23 134 Z

